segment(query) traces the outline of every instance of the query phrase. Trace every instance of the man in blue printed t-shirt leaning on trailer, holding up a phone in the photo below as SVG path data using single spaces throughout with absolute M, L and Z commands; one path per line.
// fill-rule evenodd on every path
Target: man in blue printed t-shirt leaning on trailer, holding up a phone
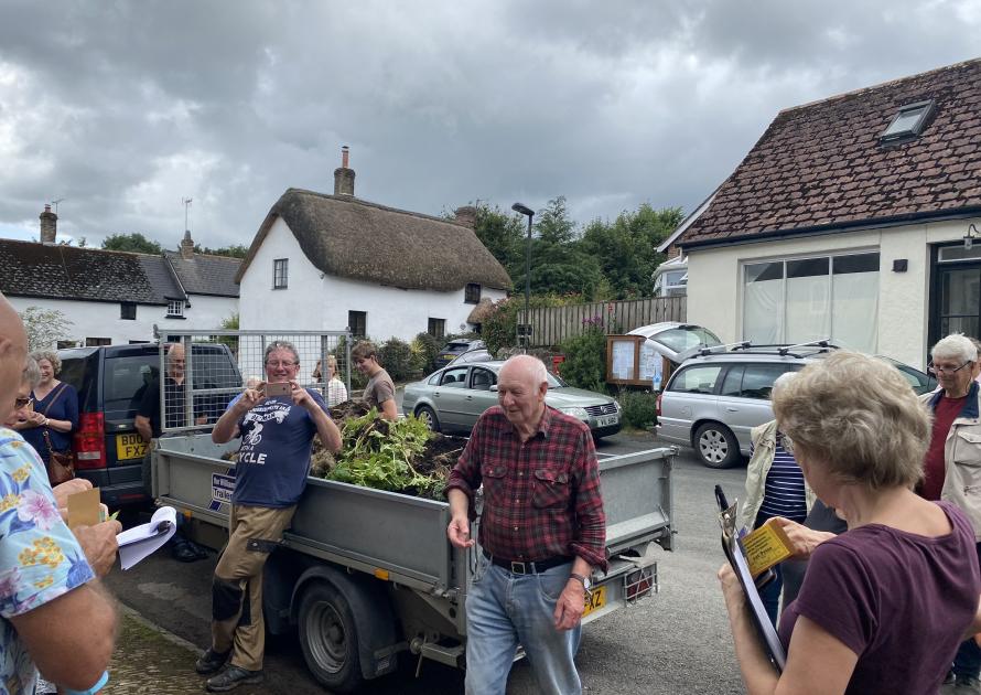
M 341 430 L 323 398 L 297 383 L 300 356 L 293 345 L 270 343 L 263 363 L 266 383 L 229 404 L 212 431 L 217 443 L 241 437 L 228 545 L 212 586 L 212 646 L 195 664 L 207 674 L 228 662 L 208 678 L 213 693 L 262 682 L 262 568 L 306 487 L 314 435 L 328 451 L 341 450 Z M 289 395 L 272 395 L 271 384 L 289 384 Z

